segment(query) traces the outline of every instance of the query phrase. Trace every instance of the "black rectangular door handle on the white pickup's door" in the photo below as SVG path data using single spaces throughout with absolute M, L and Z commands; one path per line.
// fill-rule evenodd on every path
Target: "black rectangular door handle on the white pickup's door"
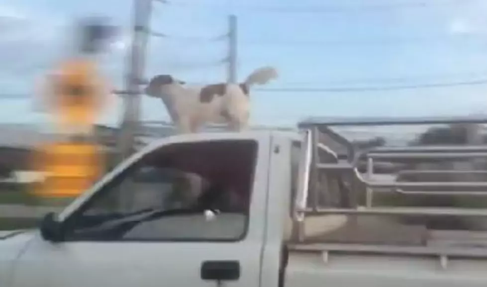
M 233 281 L 240 278 L 240 262 L 235 260 L 212 260 L 201 263 L 201 279 Z

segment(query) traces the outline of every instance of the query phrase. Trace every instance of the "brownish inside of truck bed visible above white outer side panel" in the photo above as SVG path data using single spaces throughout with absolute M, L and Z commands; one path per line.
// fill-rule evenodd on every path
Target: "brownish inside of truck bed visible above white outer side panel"
M 340 217 L 341 216 L 341 217 Z M 308 216 L 301 244 L 361 244 L 423 247 L 476 247 L 487 249 L 487 231 L 435 230 L 380 216 Z

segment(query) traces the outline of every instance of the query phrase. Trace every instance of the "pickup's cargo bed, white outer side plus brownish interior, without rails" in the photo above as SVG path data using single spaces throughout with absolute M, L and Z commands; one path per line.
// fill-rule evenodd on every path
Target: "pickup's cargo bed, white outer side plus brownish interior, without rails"
M 287 245 L 285 287 L 487 285 L 485 231 L 431 230 L 377 217 L 348 219 L 322 234 L 317 233 L 323 225 L 307 222 L 309 236 Z

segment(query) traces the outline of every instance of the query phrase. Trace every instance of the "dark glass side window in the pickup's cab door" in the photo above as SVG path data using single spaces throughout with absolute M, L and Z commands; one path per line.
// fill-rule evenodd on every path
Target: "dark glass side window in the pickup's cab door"
M 147 154 L 67 220 L 67 240 L 240 240 L 255 141 L 173 144 Z

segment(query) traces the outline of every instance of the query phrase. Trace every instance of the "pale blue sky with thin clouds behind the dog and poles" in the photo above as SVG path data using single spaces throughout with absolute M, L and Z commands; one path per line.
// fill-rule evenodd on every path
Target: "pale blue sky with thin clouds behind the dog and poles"
M 279 71 L 278 79 L 252 91 L 253 124 L 487 112 L 485 0 L 168 1 L 153 3 L 151 27 L 167 37 L 151 37 L 146 77 L 226 80 L 227 42 L 215 37 L 227 33 L 233 13 L 238 79 L 262 66 Z M 122 88 L 132 7 L 132 0 L 0 0 L 0 122 L 49 122 L 35 83 L 65 55 L 69 25 L 79 17 L 107 16 L 121 27 L 100 65 Z M 116 125 L 121 109 L 114 98 L 99 123 Z M 142 118 L 169 119 L 163 103 L 147 96 Z

